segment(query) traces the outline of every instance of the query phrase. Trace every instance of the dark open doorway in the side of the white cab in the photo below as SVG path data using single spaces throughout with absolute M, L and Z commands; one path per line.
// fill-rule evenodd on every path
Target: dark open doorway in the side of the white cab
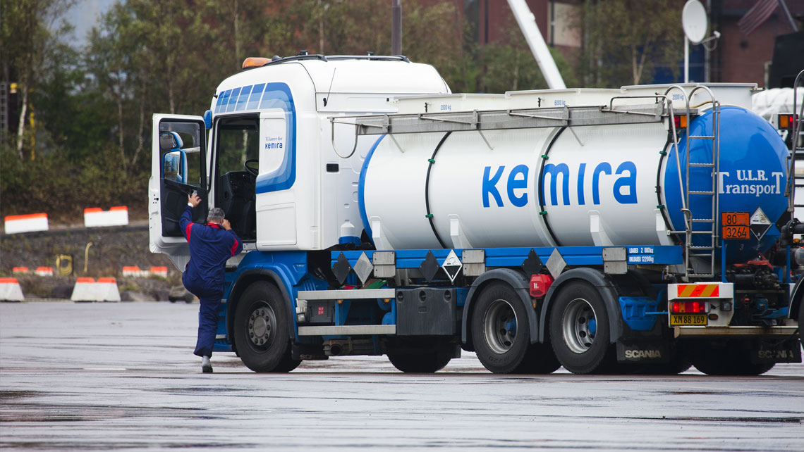
M 260 157 L 257 118 L 240 116 L 219 120 L 216 137 L 215 206 L 224 210 L 232 230 L 243 240 L 256 240 L 254 184 L 248 166 Z

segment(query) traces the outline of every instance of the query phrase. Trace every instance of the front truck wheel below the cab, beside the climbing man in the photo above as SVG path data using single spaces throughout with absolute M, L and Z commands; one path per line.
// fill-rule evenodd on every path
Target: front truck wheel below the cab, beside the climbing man
M 252 283 L 240 297 L 233 324 L 235 346 L 254 372 L 289 372 L 301 362 L 290 357 L 287 303 L 271 283 Z

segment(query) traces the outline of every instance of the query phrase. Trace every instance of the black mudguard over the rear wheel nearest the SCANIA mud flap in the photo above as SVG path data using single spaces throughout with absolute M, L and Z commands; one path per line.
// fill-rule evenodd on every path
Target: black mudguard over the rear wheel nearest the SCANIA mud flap
M 620 303 L 617 301 L 617 287 L 615 283 L 609 278 L 608 275 L 594 268 L 581 267 L 572 268 L 564 271 L 555 281 L 553 281 L 548 294 L 544 297 L 541 311 L 539 312 L 539 342 L 544 342 L 546 339 L 545 331 L 547 331 L 547 321 L 550 316 L 550 308 L 553 299 L 561 291 L 567 283 L 583 281 L 589 283 L 601 295 L 603 303 L 609 314 L 609 342 L 614 343 L 622 335 L 622 315 L 620 312 Z

